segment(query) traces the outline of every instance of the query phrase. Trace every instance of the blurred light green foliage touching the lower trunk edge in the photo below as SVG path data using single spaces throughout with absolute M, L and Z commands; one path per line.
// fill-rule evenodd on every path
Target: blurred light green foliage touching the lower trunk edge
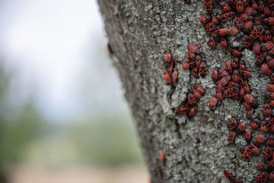
M 82 123 L 71 123 L 68 129 L 82 163 L 116 166 L 142 162 L 128 112 L 90 117 Z

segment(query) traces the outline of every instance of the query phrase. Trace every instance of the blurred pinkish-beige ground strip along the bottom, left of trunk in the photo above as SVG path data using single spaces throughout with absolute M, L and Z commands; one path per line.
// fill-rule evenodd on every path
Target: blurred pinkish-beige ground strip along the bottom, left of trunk
M 149 182 L 144 167 L 37 169 L 20 167 L 11 183 L 142 183 Z

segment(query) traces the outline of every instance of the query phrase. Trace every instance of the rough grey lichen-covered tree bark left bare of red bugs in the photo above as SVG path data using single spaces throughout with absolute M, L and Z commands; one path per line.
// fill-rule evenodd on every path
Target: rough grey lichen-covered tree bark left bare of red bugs
M 189 5 L 181 0 L 100 0 L 98 1 L 105 32 L 114 51 L 114 66 L 119 71 L 125 97 L 136 121 L 140 142 L 153 182 L 227 182 L 223 170 L 231 171 L 243 182 L 252 182 L 259 172 L 256 164 L 264 154 L 245 161 L 242 151 L 247 143 L 242 136 L 227 145 L 227 121 L 236 119 L 247 123 L 245 109 L 239 101 L 225 99 L 215 111 L 210 111 L 208 101 L 215 95 L 212 82 L 214 69 L 224 68 L 232 60 L 228 49 L 208 47 L 208 36 L 199 23 L 206 14 L 203 1 L 193 0 Z M 214 8 L 214 10 L 217 8 Z M 219 11 L 219 10 L 216 10 Z M 216 12 L 214 12 L 216 14 Z M 232 27 L 228 21 L 223 27 Z M 192 77 L 182 70 L 188 45 L 201 47 L 203 60 L 208 64 L 205 78 Z M 251 94 L 259 105 L 253 117 L 262 119 L 262 105 L 269 83 L 255 64 L 255 55 L 232 36 L 229 44 L 243 53 L 247 71 L 252 73 L 249 84 Z M 164 55 L 171 53 L 177 61 L 179 79 L 175 90 L 162 76 Z M 184 101 L 193 84 L 206 89 L 199 99 L 192 119 L 175 117 L 174 110 Z M 258 136 L 260 132 L 254 132 Z M 256 141 L 255 138 L 252 141 Z M 160 154 L 166 154 L 162 164 Z

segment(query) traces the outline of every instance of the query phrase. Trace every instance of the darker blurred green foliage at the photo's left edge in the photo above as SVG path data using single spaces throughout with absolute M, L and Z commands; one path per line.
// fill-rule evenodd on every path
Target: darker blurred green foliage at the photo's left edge
M 9 85 L 10 76 L 0 68 L 0 167 L 21 162 L 28 145 L 42 135 L 45 126 L 31 99 L 19 109 L 10 106 Z

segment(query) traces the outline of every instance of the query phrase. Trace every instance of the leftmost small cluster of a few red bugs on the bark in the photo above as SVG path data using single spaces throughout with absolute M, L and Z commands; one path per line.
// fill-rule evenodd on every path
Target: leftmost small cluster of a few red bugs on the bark
M 171 67 L 170 67 L 170 74 L 168 70 L 164 70 L 163 71 L 163 75 L 164 75 L 164 80 L 166 80 L 166 82 L 168 84 L 175 84 L 175 82 L 177 81 L 177 77 L 178 77 L 178 71 L 173 71 L 173 67 L 175 64 L 175 60 L 172 59 L 171 54 L 167 53 L 166 56 L 164 56 L 164 60 L 166 60 L 166 64 L 169 65 L 171 63 Z

